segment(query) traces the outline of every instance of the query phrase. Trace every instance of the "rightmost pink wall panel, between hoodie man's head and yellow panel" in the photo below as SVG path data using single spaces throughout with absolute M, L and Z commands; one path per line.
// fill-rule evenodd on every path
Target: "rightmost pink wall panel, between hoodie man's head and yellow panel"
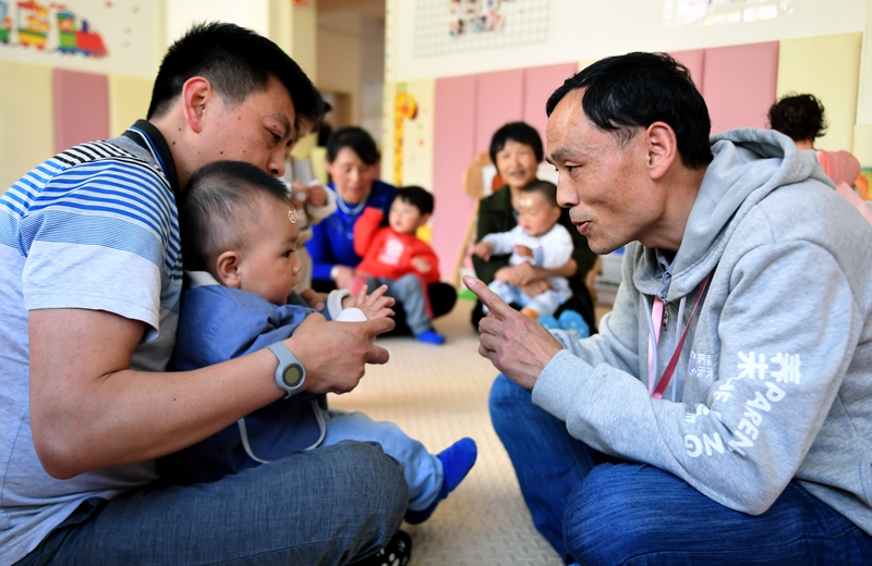
M 702 93 L 712 133 L 765 127 L 777 78 L 777 41 L 706 49 Z

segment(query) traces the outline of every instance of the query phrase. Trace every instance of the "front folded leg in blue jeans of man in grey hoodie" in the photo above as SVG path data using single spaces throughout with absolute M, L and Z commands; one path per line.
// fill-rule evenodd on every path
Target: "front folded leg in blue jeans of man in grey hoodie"
M 584 565 L 872 564 L 872 537 L 797 481 L 751 516 L 639 464 L 594 468 L 569 497 L 564 537 Z

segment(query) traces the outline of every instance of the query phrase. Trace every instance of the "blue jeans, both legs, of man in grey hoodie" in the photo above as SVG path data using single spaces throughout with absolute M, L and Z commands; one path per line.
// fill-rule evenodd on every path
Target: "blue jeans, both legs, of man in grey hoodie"
M 796 481 L 762 515 L 731 510 L 653 466 L 610 464 L 504 376 L 491 418 L 536 528 L 567 562 L 872 563 L 872 537 Z

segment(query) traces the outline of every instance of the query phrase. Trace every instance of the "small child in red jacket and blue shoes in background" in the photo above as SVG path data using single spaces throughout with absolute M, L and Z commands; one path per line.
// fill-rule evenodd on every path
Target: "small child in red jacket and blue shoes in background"
M 427 285 L 439 281 L 439 260 L 433 248 L 415 236 L 432 213 L 433 195 L 417 186 L 397 190 L 387 226 L 380 226 L 384 218 L 380 210 L 364 210 L 354 224 L 354 251 L 363 260 L 355 270 L 351 292 L 364 284 L 370 288 L 387 285 L 386 295 L 402 302 L 407 323 L 415 337 L 438 345 L 445 342 L 445 336 L 431 324 L 433 311 Z

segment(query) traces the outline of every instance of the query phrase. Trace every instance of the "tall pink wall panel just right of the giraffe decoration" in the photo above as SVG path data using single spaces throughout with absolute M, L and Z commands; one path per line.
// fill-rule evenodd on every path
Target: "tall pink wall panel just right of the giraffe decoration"
M 436 79 L 433 133 L 433 249 L 450 279 L 473 201 L 463 192 L 463 171 L 475 157 L 474 75 Z M 488 138 L 489 139 L 489 138 Z

